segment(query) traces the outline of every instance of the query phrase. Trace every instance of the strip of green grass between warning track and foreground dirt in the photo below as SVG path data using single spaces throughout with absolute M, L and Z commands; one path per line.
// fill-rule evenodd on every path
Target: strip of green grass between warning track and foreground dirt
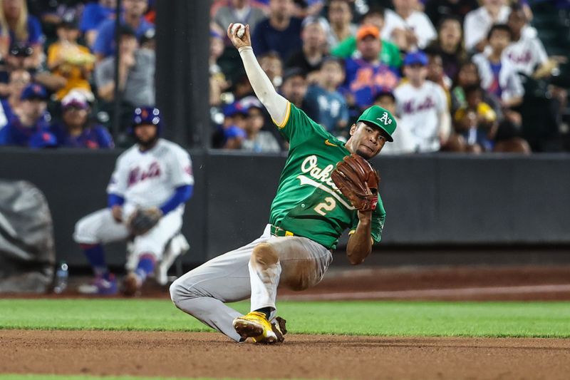
M 249 303 L 232 305 L 247 312 Z M 570 302 L 280 302 L 296 334 L 570 337 Z M 160 299 L 0 299 L 0 329 L 211 331 Z

